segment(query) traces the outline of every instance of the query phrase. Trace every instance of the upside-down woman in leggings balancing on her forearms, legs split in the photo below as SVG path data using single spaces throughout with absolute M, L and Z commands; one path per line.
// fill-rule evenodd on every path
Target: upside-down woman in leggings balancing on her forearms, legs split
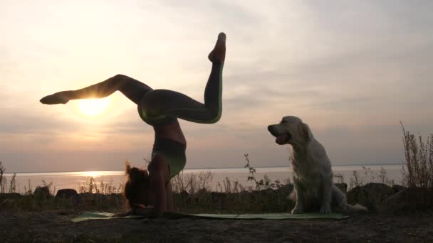
M 204 104 L 172 90 L 152 90 L 144 83 L 115 75 L 108 80 L 80 90 L 68 90 L 48 95 L 43 104 L 66 104 L 72 99 L 103 98 L 119 90 L 137 104 L 138 114 L 155 130 L 152 159 L 147 171 L 126 165 L 129 176 L 125 198 L 132 208 L 130 213 L 157 216 L 172 210 L 170 179 L 183 170 L 187 141 L 177 118 L 196 123 L 212 124 L 221 117 L 222 69 L 226 55 L 226 35 L 219 33 L 208 58 L 212 70 L 204 90 Z M 148 207 L 153 205 L 153 207 Z

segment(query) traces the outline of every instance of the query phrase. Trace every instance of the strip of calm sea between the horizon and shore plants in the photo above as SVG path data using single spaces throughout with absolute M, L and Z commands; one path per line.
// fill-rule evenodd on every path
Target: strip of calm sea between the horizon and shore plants
M 403 164 L 375 164 L 375 165 L 350 165 L 350 166 L 332 166 L 334 182 L 348 183 L 355 180 L 358 183 L 394 183 L 402 184 Z M 254 177 L 256 180 L 264 179 L 265 176 L 271 183 L 276 180 L 279 183 L 288 183 L 292 181 L 291 167 L 259 167 L 255 168 Z M 188 178 L 189 175 L 203 175 L 208 178 L 209 189 L 221 190 L 224 183 L 230 181 L 231 185 L 239 183 L 244 188 L 255 188 L 256 183 L 248 180 L 251 175 L 248 168 L 200 168 L 185 169 L 182 177 Z M 12 173 L 5 173 L 6 187 L 8 192 Z M 88 188 L 90 180 L 96 185 L 112 186 L 121 190 L 121 185 L 125 183 L 125 171 L 75 171 L 75 172 L 37 172 L 37 173 L 16 173 L 16 193 L 26 193 L 28 190 L 33 191 L 37 186 L 50 185 L 51 191 L 56 193 L 57 190 L 71 188 L 80 192 L 80 188 Z

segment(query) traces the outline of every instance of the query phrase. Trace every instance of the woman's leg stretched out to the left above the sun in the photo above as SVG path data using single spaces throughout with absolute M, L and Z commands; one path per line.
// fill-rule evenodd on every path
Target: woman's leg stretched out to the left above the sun
M 43 104 L 66 104 L 71 99 L 108 97 L 118 90 L 135 104 L 140 104 L 142 97 L 152 90 L 152 88 L 132 77 L 115 75 L 108 80 L 98 82 L 95 85 L 90 85 L 80 90 L 67 90 L 48 95 L 43 97 L 41 102 Z

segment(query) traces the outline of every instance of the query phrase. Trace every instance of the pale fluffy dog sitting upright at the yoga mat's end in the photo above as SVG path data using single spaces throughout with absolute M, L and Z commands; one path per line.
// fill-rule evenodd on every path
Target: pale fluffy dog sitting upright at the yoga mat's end
M 298 117 L 283 117 L 268 126 L 276 143 L 290 144 L 294 199 L 292 214 L 320 210 L 321 213 L 365 211 L 361 205 L 348 205 L 345 195 L 333 183 L 333 172 L 325 148 L 314 139 L 310 128 Z

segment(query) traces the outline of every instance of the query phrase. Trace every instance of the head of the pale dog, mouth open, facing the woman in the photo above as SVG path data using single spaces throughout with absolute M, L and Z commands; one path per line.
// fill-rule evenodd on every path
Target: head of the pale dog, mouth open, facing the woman
M 287 116 L 279 124 L 268 126 L 268 131 L 276 137 L 277 144 L 306 144 L 313 138 L 308 125 L 298 117 Z

